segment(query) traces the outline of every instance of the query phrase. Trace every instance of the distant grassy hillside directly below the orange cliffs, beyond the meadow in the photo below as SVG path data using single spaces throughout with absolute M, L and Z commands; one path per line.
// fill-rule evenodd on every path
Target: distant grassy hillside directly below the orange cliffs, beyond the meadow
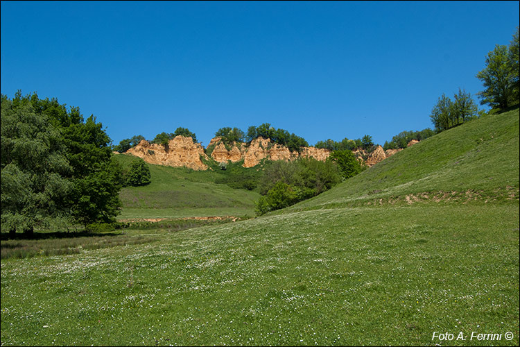
M 137 158 L 116 155 L 128 165 Z M 119 218 L 175 218 L 193 216 L 254 216 L 257 192 L 217 184 L 224 174 L 182 167 L 147 164 L 151 183 L 121 189 L 123 210 Z

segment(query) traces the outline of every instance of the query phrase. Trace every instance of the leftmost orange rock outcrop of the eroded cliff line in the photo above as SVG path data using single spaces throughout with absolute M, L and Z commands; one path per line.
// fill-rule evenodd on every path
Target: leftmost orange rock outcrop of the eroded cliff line
M 189 167 L 193 170 L 206 170 L 200 158 L 206 158 L 204 148 L 201 144 L 193 143 L 191 137 L 176 136 L 168 144 L 150 144 L 141 140 L 137 146 L 126 151 L 128 154 L 136 155 L 150 164 L 166 165 L 169 167 Z

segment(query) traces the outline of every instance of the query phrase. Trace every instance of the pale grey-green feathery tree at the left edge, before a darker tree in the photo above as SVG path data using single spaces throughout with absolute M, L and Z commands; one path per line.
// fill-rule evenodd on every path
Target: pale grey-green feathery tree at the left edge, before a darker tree
M 62 217 L 72 189 L 71 166 L 60 132 L 17 92 L 1 95 L 1 228 L 32 234 L 34 227 Z M 5 229 L 4 229 L 5 228 Z

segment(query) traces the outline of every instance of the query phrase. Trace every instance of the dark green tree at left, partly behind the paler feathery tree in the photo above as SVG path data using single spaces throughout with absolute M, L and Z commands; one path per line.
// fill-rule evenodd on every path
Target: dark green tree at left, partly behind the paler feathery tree
M 25 98 L 31 100 L 37 112 L 47 115 L 62 135 L 72 167 L 71 173 L 64 176 L 72 185 L 63 201 L 69 215 L 84 226 L 115 221 L 121 206 L 121 167 L 114 160 L 103 124 L 97 123 L 94 115 L 85 120 L 77 107 L 67 111 L 56 99 L 38 99 L 37 94 Z

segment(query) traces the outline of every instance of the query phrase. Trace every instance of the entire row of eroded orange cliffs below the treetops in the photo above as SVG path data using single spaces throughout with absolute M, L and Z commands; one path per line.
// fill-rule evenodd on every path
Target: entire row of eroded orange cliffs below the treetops
M 416 142 L 414 142 L 416 143 Z M 413 143 L 410 142 L 408 146 Z M 329 149 L 318 149 L 315 147 L 303 147 L 300 153 L 290 151 L 286 146 L 275 144 L 271 139 L 258 137 L 254 139 L 249 146 L 243 142 L 233 142 L 226 146 L 220 139 L 215 137 L 211 139 L 207 149 L 213 146 L 211 151 L 211 159 L 216 162 L 239 162 L 243 160 L 243 167 L 257 166 L 261 160 L 296 160 L 297 158 L 315 158 L 316 160 L 325 161 L 329 158 L 331 151 Z M 363 149 L 354 151 L 358 158 L 367 158 L 366 164 L 371 167 L 381 160 L 402 151 L 402 149 L 389 149 L 383 151 L 383 147 L 377 148 L 367 156 Z M 193 142 L 191 137 L 177 136 L 168 142 L 168 145 L 150 144 L 146 140 L 141 140 L 137 146 L 126 151 L 128 154 L 136 155 L 150 164 L 166 165 L 171 167 L 189 167 L 194 170 L 207 170 L 201 158 L 209 160 L 201 144 Z

